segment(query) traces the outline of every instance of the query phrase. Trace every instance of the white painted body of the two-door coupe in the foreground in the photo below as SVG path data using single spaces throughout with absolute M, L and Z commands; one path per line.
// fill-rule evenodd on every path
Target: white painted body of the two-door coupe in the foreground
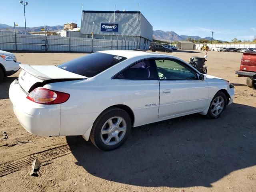
M 128 106 L 134 114 L 133 126 L 137 127 L 197 112 L 205 115 L 212 98 L 219 90 L 226 90 L 229 94 L 228 104 L 233 101 L 234 88 L 230 88 L 226 80 L 209 75 L 204 75 L 204 80 L 112 79 L 115 74 L 141 59 L 157 57 L 180 60 L 179 58 L 125 50 L 102 51 L 102 53 L 127 59 L 91 78 L 60 68 L 56 69 L 55 66 L 21 65 L 23 70 L 19 81 L 12 82 L 9 96 L 14 113 L 22 126 L 28 132 L 39 136 L 82 135 L 88 140 L 94 121 L 110 106 Z M 30 67 L 34 69 L 32 72 L 31 69 L 29 70 Z M 46 70 L 47 68 L 52 70 Z M 55 70 L 58 70 L 58 75 Z M 199 76 L 200 72 L 197 73 Z M 80 79 L 49 83 L 43 87 L 69 93 L 70 98 L 66 102 L 44 105 L 26 98 L 30 86 L 35 82 L 63 76 Z M 167 92 L 170 90 L 170 93 L 164 93 L 163 90 Z

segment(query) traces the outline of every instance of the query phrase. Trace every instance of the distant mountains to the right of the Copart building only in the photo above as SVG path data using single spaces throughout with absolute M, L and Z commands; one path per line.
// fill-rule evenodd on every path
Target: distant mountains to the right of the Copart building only
M 212 39 L 211 37 L 201 38 L 200 36 L 178 35 L 174 31 L 161 31 L 161 30 L 153 31 L 153 39 L 156 39 L 156 40 L 180 41 L 180 40 L 185 40 L 187 38 L 192 38 L 195 40 L 199 40 L 199 39 L 211 40 Z

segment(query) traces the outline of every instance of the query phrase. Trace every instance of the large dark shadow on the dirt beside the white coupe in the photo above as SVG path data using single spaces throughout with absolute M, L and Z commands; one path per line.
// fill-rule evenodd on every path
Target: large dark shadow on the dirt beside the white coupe
M 206 186 L 256 165 L 256 108 L 233 104 L 218 120 L 193 114 L 132 130 L 119 149 L 104 152 L 81 136 L 67 136 L 70 150 L 96 177 L 136 186 Z M 241 121 L 241 119 L 249 121 Z

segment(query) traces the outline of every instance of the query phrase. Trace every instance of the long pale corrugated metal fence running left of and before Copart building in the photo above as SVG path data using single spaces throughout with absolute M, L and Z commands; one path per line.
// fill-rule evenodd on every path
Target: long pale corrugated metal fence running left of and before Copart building
M 16 40 L 15 40 L 16 39 Z M 45 46 L 46 45 L 46 46 Z M 75 51 L 135 50 L 137 40 L 104 40 L 78 37 L 39 36 L 0 32 L 0 50 Z

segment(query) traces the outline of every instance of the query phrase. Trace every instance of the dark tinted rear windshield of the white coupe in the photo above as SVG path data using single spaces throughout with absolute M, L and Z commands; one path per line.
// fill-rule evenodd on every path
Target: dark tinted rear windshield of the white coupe
M 93 77 L 126 59 L 117 55 L 95 52 L 60 64 L 58 68 L 82 76 Z

